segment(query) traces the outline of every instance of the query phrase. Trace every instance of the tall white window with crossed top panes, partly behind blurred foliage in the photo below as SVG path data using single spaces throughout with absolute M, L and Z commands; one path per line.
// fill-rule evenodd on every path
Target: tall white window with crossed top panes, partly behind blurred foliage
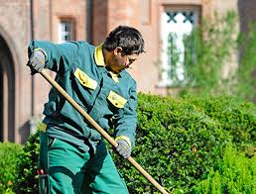
M 162 80 L 166 84 L 186 82 L 185 37 L 192 34 L 197 20 L 196 10 L 166 10 L 162 13 Z

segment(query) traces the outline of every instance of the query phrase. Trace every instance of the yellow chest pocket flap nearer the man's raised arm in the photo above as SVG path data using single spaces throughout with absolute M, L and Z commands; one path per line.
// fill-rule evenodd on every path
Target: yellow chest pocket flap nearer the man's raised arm
M 85 72 L 81 71 L 79 68 L 75 69 L 74 76 L 78 79 L 81 85 L 92 90 L 96 89 L 97 82 L 91 79 Z

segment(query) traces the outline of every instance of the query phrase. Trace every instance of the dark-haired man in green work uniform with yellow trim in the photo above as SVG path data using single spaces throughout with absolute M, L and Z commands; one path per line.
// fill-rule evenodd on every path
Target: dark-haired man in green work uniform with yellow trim
M 144 51 L 141 33 L 114 29 L 98 47 L 86 42 L 29 46 L 32 74 L 43 68 L 104 130 L 114 129 L 116 151 L 131 154 L 137 125 L 136 81 L 126 68 Z M 41 193 L 128 193 L 102 137 L 52 88 L 41 124 Z

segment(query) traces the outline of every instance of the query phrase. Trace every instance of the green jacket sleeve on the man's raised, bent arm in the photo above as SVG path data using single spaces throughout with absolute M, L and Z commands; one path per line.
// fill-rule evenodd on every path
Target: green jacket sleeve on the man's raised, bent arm
M 32 41 L 28 48 L 29 57 L 35 48 L 44 50 L 46 54 L 46 68 L 59 73 L 64 73 L 71 67 L 79 50 L 76 42 L 56 45 L 50 42 Z

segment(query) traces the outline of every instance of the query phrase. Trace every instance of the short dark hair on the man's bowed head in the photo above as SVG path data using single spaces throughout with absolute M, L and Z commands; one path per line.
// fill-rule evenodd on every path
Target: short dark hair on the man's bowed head
M 119 26 L 107 36 L 103 48 L 111 51 L 117 47 L 123 48 L 122 54 L 139 54 L 144 52 L 144 40 L 141 33 L 132 27 Z

